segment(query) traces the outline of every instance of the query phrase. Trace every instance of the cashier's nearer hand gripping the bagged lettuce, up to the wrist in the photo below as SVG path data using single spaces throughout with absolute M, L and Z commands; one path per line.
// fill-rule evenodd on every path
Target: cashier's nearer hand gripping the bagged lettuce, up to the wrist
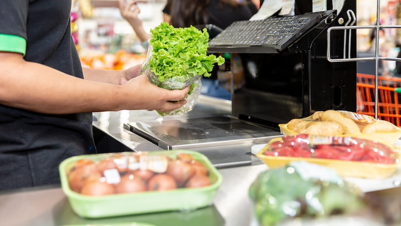
M 181 90 L 167 90 L 149 81 L 146 74 L 130 79 L 124 86 L 128 90 L 128 104 L 125 109 L 147 109 L 171 112 L 186 103 L 184 100 L 189 86 Z M 132 96 L 132 97 L 130 97 Z

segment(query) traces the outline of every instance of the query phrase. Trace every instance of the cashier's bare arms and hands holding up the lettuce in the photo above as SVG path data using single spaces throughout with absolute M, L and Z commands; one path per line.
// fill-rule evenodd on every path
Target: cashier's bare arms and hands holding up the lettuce
M 170 112 L 185 104 L 189 86 L 163 89 L 146 75 L 138 76 L 139 70 L 140 65 L 104 73 L 85 69 L 84 76 L 96 80 L 90 81 L 27 62 L 21 54 L 0 52 L 0 104 L 45 114 L 122 109 Z M 112 77 L 120 77 L 120 85 L 106 83 L 113 81 Z

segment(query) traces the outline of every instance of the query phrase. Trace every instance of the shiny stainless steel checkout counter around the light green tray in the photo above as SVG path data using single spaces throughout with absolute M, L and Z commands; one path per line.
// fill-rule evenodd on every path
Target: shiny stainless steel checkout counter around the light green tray
M 94 114 L 99 150 L 119 151 L 156 151 L 163 150 L 157 145 L 123 128 L 129 122 L 158 121 L 177 118 L 197 118 L 231 114 L 231 102 L 201 96 L 194 109 L 184 116 L 158 116 L 154 111 L 117 111 L 97 112 Z M 277 133 L 279 135 L 279 133 Z M 267 143 L 267 141 L 261 141 Z M 8 226 L 53 226 L 53 225 L 90 225 L 148 222 L 164 225 L 208 225 L 208 226 L 245 226 L 253 219 L 252 203 L 248 189 L 256 176 L 267 170 L 265 164 L 253 156 L 254 143 L 194 148 L 205 154 L 223 175 L 223 184 L 217 191 L 212 206 L 190 212 L 160 212 L 102 219 L 81 218 L 73 212 L 58 186 L 37 187 L 10 192 L 0 192 L 0 225 Z M 257 143 L 255 143 L 257 144 Z M 384 180 L 345 178 L 357 184 L 362 191 L 374 191 L 401 184 L 401 172 Z M 134 204 L 134 203 L 133 203 Z M 151 203 L 149 203 L 151 204 Z

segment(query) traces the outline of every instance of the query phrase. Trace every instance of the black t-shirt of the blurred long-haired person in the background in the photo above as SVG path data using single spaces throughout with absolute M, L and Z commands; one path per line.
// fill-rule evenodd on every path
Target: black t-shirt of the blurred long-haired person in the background
M 171 2 L 168 1 L 163 13 L 170 15 L 170 5 Z M 209 13 L 209 21 L 205 21 L 204 24 L 214 24 L 221 29 L 226 29 L 235 21 L 249 20 L 257 12 L 257 9 L 252 3 L 235 8 L 222 4 L 219 0 L 211 0 L 207 11 Z M 196 24 L 193 24 L 193 26 L 196 26 Z

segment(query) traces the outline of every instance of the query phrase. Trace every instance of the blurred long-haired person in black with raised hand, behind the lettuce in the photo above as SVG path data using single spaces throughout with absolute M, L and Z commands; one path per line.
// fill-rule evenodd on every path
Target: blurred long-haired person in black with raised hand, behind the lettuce
M 131 25 L 142 42 L 150 39 L 138 18 L 140 9 L 139 0 L 120 0 L 121 16 Z M 249 20 L 258 12 L 250 1 L 239 3 L 236 0 L 167 0 L 163 9 L 163 21 L 175 28 L 189 27 L 190 25 L 214 24 L 226 29 L 235 21 Z M 173 15 L 173 16 L 171 16 Z

